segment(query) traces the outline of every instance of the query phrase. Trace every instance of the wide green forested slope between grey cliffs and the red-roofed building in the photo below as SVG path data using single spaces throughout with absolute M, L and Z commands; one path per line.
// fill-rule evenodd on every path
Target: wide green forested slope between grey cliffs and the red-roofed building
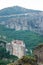
M 32 49 L 40 43 L 43 43 L 43 36 L 36 34 L 31 31 L 15 31 L 14 29 L 7 29 L 4 26 L 0 26 L 0 39 L 3 39 L 3 36 L 6 39 L 3 39 L 7 42 L 11 42 L 12 40 L 23 40 L 28 49 Z

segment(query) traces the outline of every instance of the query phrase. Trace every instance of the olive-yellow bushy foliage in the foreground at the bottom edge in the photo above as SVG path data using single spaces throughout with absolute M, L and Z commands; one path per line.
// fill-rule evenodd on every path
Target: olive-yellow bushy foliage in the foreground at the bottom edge
M 32 56 L 23 56 L 14 63 L 8 65 L 37 65 L 37 58 Z

